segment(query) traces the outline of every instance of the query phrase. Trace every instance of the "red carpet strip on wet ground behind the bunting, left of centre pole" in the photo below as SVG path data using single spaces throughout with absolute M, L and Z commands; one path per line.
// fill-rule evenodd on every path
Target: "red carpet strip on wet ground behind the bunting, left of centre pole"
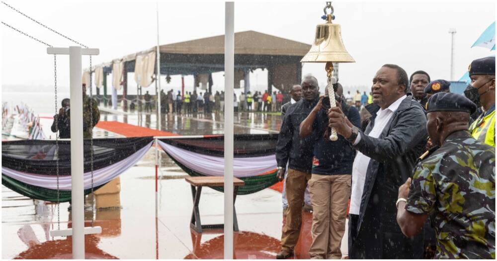
M 122 123 L 119 121 L 100 121 L 96 127 L 111 131 L 126 137 L 145 137 L 145 136 L 179 136 L 176 133 L 168 131 L 154 130 L 146 127 Z

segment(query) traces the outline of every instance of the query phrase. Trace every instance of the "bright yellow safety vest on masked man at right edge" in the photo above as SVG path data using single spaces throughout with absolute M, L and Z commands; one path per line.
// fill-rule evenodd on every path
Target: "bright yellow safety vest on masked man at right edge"
M 471 124 L 469 131 L 471 132 L 471 135 L 473 135 L 473 138 L 495 148 L 495 125 L 496 111 L 494 107 L 489 115 L 485 116 L 485 113 L 480 115 L 480 117 Z

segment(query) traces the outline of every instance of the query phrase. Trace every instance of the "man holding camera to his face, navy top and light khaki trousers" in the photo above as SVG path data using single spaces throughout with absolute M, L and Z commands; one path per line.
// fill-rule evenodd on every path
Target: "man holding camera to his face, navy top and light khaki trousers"
M 342 101 L 343 88 L 335 88 L 336 106 L 340 106 L 347 119 L 360 126 L 359 111 Z M 328 95 L 328 89 L 325 90 Z M 320 101 L 309 116 L 300 124 L 300 136 L 314 132 L 314 157 L 312 176 L 309 180 L 313 206 L 311 259 L 341 259 L 341 240 L 345 232 L 347 202 L 350 197 L 350 180 L 355 151 L 342 136 L 330 140 L 327 110 L 328 96 Z

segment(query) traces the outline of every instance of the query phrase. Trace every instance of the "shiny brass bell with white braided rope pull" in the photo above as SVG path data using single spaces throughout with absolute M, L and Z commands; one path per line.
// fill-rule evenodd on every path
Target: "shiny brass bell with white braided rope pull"
M 331 9 L 331 13 L 327 13 L 326 10 Z M 302 58 L 301 62 L 304 63 L 326 63 L 325 70 L 328 76 L 328 89 L 330 105 L 331 107 L 336 106 L 335 104 L 335 92 L 333 89 L 333 83 L 331 81 L 331 73 L 333 72 L 333 63 L 355 63 L 354 58 L 343 46 L 341 40 L 341 29 L 339 24 L 333 24 L 331 21 L 334 19 L 333 16 L 333 6 L 331 2 L 326 2 L 324 8 L 326 18 L 326 23 L 318 24 L 316 26 L 316 37 L 314 39 L 311 50 Z M 336 141 L 338 139 L 336 130 L 331 128 L 330 140 Z

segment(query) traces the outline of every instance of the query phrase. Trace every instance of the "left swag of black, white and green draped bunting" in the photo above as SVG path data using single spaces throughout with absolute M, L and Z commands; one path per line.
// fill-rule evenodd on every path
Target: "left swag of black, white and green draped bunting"
M 93 187 L 106 184 L 134 166 L 150 149 L 152 137 L 93 139 Z M 91 192 L 90 140 L 84 140 L 84 191 Z M 71 200 L 71 141 L 59 141 L 60 202 Z M 2 142 L 2 184 L 30 198 L 57 201 L 54 140 Z

